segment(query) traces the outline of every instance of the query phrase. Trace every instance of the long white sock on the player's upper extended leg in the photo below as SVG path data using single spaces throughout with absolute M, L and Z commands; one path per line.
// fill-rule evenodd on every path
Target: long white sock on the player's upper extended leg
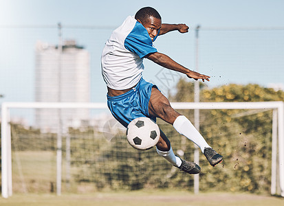
M 202 153 L 204 153 L 204 148 L 210 148 L 195 126 L 193 126 L 193 124 L 191 124 L 191 122 L 184 115 L 180 115 L 177 117 L 177 119 L 175 119 L 175 122 L 173 122 L 173 127 L 179 134 L 184 135 L 193 141 L 197 146 L 199 146 Z

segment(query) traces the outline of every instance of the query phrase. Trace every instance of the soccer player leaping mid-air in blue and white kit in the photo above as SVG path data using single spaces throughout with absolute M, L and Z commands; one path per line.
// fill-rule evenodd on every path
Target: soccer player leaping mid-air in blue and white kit
M 143 60 L 147 58 L 166 69 L 179 71 L 194 80 L 207 80 L 209 76 L 191 71 L 170 57 L 157 52 L 153 41 L 171 31 L 188 32 L 185 24 L 164 24 L 160 14 L 151 7 L 141 8 L 135 16 L 127 19 L 113 31 L 102 51 L 102 76 L 107 84 L 107 104 L 109 110 L 123 126 L 135 118 L 156 117 L 172 124 L 175 130 L 193 141 L 204 153 L 210 165 L 222 161 L 222 156 L 213 150 L 191 122 L 172 107 L 157 86 L 142 78 Z M 156 145 L 157 153 L 172 165 L 189 174 L 201 170 L 196 163 L 177 157 L 171 143 L 161 130 Z

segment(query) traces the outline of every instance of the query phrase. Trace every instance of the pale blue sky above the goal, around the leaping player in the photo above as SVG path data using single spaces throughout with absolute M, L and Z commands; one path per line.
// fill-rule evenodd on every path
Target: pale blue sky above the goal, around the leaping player
M 57 43 L 56 24 L 117 27 L 144 6 L 156 8 L 164 23 L 186 23 L 188 34 L 173 32 L 157 38 L 159 52 L 195 69 L 195 27 L 199 32 L 199 71 L 212 76 L 208 87 L 222 84 L 284 84 L 284 1 L 90 1 L 0 0 L 0 94 L 3 101 L 34 100 L 34 45 Z M 19 28 L 32 25 L 32 28 Z M 35 26 L 49 26 L 39 29 Z M 7 28 L 7 27 L 13 27 Z M 208 31 L 221 28 L 274 28 L 280 31 Z M 202 30 L 204 29 L 204 30 Z M 91 101 L 105 101 L 100 53 L 111 30 L 63 30 L 91 52 Z M 162 68 L 144 60 L 144 78 L 172 90 Z M 170 73 L 179 78 L 180 75 Z M 164 87 L 166 85 L 166 87 Z M 164 88 L 163 88 L 164 87 Z

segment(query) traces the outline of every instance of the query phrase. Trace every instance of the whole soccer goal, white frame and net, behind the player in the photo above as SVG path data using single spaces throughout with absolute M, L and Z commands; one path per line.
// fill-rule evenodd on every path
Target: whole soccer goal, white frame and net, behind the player
M 199 191 L 284 196 L 283 102 L 173 102 L 223 155 L 212 168 L 199 152 Z M 78 115 L 80 114 L 80 115 Z M 193 142 L 161 119 L 174 152 L 196 159 Z M 194 122 L 193 122 L 194 123 Z M 155 148 L 135 150 L 106 104 L 6 102 L 1 110 L 2 196 L 12 192 L 96 192 L 142 188 L 193 191 L 193 175 L 180 172 Z

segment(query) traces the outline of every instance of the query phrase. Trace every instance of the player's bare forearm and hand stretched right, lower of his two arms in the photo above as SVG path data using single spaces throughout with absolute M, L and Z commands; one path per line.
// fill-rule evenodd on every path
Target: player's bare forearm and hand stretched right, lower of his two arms
M 173 71 L 179 71 L 181 73 L 185 73 L 188 78 L 193 78 L 195 80 L 201 79 L 202 81 L 207 80 L 210 81 L 210 76 L 206 76 L 204 74 L 198 73 L 196 71 L 191 71 L 190 69 L 187 69 L 186 67 L 179 65 L 179 63 L 172 60 L 169 56 L 166 56 L 166 54 L 162 54 L 159 52 L 151 53 L 145 56 L 145 58 L 148 58 L 149 60 L 152 60 L 156 64 L 165 67 L 167 69 L 171 69 Z

